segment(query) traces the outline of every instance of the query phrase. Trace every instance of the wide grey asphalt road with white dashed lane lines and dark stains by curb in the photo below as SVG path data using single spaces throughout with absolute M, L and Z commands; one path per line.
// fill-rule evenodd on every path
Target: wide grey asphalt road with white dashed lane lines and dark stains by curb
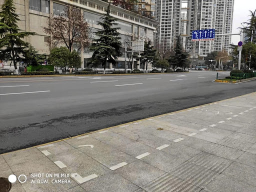
M 256 91 L 255 80 L 225 84 L 215 76 L 0 78 L 0 153 Z

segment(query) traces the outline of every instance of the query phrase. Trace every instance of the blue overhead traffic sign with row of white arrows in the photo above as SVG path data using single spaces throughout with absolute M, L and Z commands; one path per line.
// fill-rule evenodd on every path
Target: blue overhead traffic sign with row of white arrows
M 215 38 L 215 29 L 214 28 L 192 31 L 192 41 L 214 40 L 214 38 Z

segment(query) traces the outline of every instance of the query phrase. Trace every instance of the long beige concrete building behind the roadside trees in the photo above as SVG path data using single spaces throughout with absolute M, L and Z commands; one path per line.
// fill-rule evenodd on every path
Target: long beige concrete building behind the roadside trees
M 0 0 L 0 5 L 3 0 Z M 18 26 L 21 30 L 36 32 L 35 35 L 26 38 L 32 46 L 38 50 L 39 54 L 49 54 L 47 46 L 48 35 L 43 31 L 42 27 L 47 26 L 47 21 L 54 14 L 60 14 L 67 5 L 73 5 L 81 10 L 84 19 L 89 23 L 91 31 L 100 29 L 97 21 L 105 14 L 108 3 L 101 0 L 14 0 L 16 13 L 19 15 Z M 157 25 L 157 21 L 148 17 L 127 11 L 120 7 L 110 5 L 111 14 L 117 18 L 118 27 L 121 34 L 121 41 L 131 40 L 132 33 L 138 37 L 145 36 L 145 39 L 153 41 L 153 32 Z M 73 47 L 75 48 L 75 47 Z M 86 67 L 86 63 L 92 52 L 88 48 L 80 51 L 82 66 Z M 124 54 L 123 54 L 124 55 Z M 128 60 L 127 60 L 128 61 Z M 111 67 L 111 65 L 108 67 Z M 124 68 L 124 56 L 117 59 L 117 68 Z

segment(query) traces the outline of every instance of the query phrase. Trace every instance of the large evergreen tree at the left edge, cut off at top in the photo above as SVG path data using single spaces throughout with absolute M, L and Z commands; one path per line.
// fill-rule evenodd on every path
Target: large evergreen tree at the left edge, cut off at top
M 22 60 L 22 55 L 29 43 L 23 41 L 24 37 L 35 34 L 34 32 L 21 31 L 17 22 L 18 15 L 13 0 L 5 0 L 0 11 L 0 59 L 13 62 L 17 74 L 17 62 Z

